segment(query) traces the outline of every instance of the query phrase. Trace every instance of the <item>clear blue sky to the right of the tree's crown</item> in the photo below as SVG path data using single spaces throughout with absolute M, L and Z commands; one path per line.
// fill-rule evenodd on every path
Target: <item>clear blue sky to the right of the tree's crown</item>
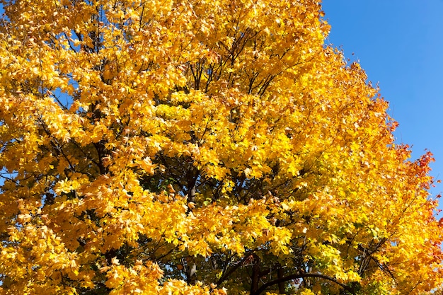
M 379 83 L 397 143 L 412 146 L 413 159 L 430 150 L 431 174 L 443 179 L 443 0 L 323 0 L 323 11 L 328 42 Z

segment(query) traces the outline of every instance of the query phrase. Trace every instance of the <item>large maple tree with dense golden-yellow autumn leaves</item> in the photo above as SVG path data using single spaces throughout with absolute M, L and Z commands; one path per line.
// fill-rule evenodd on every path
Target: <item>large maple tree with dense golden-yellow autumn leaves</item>
M 430 153 L 314 0 L 1 1 L 0 294 L 423 294 Z

